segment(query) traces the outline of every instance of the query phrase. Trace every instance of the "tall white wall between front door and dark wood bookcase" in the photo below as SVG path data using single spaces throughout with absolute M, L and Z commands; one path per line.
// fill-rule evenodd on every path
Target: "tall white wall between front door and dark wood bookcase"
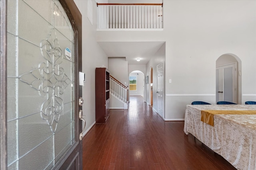
M 74 0 L 82 14 L 82 71 L 86 74 L 83 90 L 83 114 L 87 132 L 95 123 L 95 68 L 108 66 L 108 58 L 96 42 L 96 2 L 93 4 L 93 25 L 87 18 L 87 0 Z M 84 133 L 85 135 L 85 133 Z

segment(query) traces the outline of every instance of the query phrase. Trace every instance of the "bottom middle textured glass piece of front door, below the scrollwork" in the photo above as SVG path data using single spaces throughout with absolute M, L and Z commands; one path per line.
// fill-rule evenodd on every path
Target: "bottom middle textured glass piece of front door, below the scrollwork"
M 43 170 L 54 159 L 54 137 L 36 147 L 19 160 L 20 170 Z

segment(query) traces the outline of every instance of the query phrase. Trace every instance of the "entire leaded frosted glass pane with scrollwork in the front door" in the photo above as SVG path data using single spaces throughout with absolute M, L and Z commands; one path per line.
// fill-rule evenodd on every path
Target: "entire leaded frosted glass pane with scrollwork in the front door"
M 8 0 L 8 169 L 52 169 L 74 144 L 74 31 L 56 0 Z

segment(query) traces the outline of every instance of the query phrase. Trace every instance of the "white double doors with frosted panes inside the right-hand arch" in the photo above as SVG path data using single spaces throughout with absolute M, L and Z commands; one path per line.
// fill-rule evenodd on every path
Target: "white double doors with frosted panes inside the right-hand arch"
M 216 102 L 237 103 L 236 63 L 216 67 Z

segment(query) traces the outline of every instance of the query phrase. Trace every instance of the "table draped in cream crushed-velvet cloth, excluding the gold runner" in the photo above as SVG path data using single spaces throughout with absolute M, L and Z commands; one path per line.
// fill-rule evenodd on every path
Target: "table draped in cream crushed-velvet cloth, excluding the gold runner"
M 215 114 L 214 126 L 201 121 L 201 111 L 225 110 Z M 256 111 L 256 105 L 187 105 L 184 132 L 220 154 L 238 170 L 256 170 L 256 114 L 232 114 Z

